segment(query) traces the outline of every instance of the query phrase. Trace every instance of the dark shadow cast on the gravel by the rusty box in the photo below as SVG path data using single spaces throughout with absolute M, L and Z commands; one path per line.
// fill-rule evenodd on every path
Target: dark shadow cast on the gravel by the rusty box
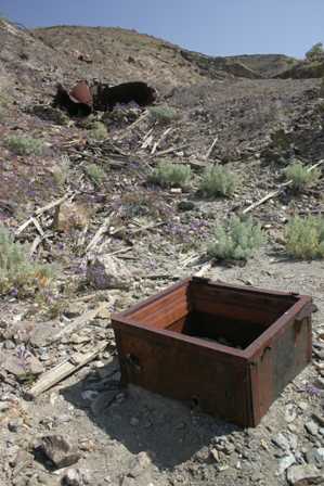
M 238 430 L 142 388 L 121 389 L 114 380 L 114 372 L 116 362 L 101 370 L 101 376 L 107 376 L 105 380 L 89 374 L 61 393 L 86 411 L 111 439 L 120 442 L 134 455 L 147 451 L 158 468 L 172 469 L 210 446 L 219 436 Z

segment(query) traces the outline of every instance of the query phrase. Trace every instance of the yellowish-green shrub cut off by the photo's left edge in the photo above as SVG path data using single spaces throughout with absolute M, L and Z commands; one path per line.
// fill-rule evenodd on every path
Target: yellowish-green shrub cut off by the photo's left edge
M 25 247 L 0 225 L 0 294 L 46 286 L 53 276 L 53 266 L 29 260 Z

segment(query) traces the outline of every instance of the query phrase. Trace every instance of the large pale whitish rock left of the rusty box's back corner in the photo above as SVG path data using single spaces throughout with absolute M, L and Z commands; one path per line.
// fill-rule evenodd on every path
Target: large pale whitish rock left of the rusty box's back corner
M 87 263 L 87 280 L 98 290 L 128 290 L 131 273 L 126 266 L 111 255 L 99 255 Z

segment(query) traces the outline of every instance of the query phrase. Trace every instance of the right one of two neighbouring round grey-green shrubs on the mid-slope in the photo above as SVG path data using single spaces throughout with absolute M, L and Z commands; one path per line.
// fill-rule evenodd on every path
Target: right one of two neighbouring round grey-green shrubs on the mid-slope
M 215 165 L 207 167 L 203 175 L 199 190 L 207 197 L 230 196 L 237 187 L 237 176 L 225 167 Z

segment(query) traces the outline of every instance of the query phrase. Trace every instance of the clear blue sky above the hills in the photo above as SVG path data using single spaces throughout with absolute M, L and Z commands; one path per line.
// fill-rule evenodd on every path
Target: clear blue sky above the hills
M 26 27 L 133 28 L 209 55 L 303 57 L 324 41 L 324 0 L 0 0 Z

